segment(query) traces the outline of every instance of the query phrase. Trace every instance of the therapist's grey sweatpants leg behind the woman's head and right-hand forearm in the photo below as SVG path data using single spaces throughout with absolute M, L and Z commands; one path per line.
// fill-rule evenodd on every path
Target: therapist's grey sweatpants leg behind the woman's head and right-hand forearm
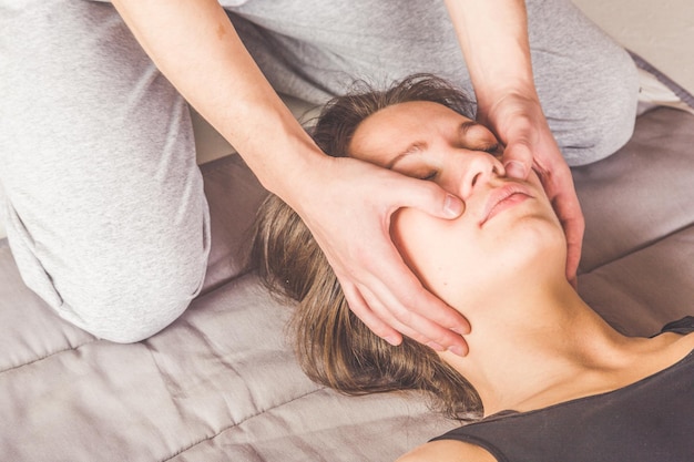
M 236 3 L 228 1 L 233 22 L 282 92 L 322 102 L 354 79 L 388 84 L 431 72 L 473 94 L 441 0 Z M 535 85 L 564 157 L 580 165 L 614 153 L 633 132 L 634 63 L 570 0 L 527 6 Z

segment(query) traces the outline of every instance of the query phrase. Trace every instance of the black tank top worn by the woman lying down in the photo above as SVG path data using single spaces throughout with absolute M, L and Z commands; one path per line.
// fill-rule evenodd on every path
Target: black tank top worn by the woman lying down
M 662 331 L 690 333 L 694 317 Z M 694 462 L 694 351 L 619 390 L 503 411 L 436 440 L 477 444 L 499 462 Z

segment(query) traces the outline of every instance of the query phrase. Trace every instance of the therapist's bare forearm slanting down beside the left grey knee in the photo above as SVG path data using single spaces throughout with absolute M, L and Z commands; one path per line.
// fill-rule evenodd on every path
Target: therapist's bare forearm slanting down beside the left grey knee
M 283 195 L 318 151 L 264 78 L 216 0 L 113 2 L 157 68 Z M 272 135 L 271 135 L 272 134 Z M 317 157 L 317 156 L 314 156 Z

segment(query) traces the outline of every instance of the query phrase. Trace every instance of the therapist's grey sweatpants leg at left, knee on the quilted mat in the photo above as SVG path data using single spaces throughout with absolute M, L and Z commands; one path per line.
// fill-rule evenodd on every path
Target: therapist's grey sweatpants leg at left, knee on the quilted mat
M 120 342 L 178 317 L 210 249 L 187 106 L 110 4 L 0 0 L 0 185 L 27 285 Z

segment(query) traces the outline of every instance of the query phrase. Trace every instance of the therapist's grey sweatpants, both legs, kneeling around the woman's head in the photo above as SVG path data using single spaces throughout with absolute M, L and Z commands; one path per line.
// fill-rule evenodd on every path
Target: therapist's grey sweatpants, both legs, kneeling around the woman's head
M 238 3 L 229 17 L 279 92 L 319 103 L 414 72 L 470 88 L 440 0 Z M 633 130 L 633 63 L 569 0 L 528 10 L 562 152 L 610 155 Z M 146 338 L 195 297 L 210 251 L 187 106 L 108 3 L 0 0 L 0 215 L 22 277 L 98 337 Z

